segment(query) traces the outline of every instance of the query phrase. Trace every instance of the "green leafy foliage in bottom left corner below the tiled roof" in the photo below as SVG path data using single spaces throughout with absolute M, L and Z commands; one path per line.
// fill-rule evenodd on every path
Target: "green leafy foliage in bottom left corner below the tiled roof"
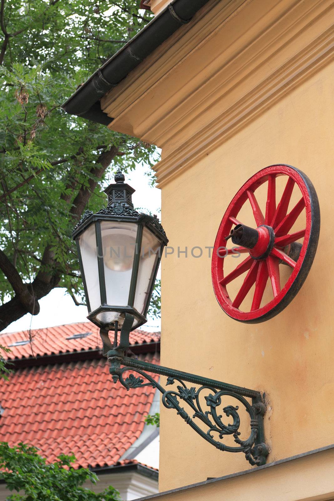
M 83 487 L 90 480 L 96 484 L 95 473 L 74 469 L 74 456 L 60 455 L 54 463 L 47 463 L 35 447 L 20 443 L 10 447 L 0 442 L 0 478 L 13 493 L 9 501 L 119 501 L 119 492 L 108 487 L 97 494 Z M 19 493 L 20 492 L 20 493 Z M 24 492 L 24 493 L 23 493 Z

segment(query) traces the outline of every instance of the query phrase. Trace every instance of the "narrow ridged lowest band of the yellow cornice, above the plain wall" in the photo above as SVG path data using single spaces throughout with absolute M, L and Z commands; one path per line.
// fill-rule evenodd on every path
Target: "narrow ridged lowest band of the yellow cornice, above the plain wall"
M 322 40 L 321 40 L 322 39 Z M 266 85 L 261 83 L 243 99 L 230 113 L 222 114 L 219 120 L 198 132 L 192 140 L 168 155 L 155 165 L 158 187 L 162 187 L 181 171 L 190 168 L 212 150 L 223 144 L 234 134 L 246 127 L 252 120 L 279 101 L 287 92 L 301 85 L 322 67 L 334 59 L 334 33 L 330 30 L 324 38 L 312 42 L 297 59 L 293 58 L 280 72 L 273 72 Z M 321 43 L 322 42 L 322 43 Z

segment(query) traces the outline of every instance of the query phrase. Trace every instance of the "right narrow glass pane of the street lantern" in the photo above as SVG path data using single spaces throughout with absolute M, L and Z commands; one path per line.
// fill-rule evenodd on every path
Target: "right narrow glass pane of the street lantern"
M 157 262 L 161 259 L 160 249 L 160 240 L 144 226 L 134 302 L 134 308 L 141 315 L 144 315 L 147 302 L 151 299 L 150 289 L 158 265 Z

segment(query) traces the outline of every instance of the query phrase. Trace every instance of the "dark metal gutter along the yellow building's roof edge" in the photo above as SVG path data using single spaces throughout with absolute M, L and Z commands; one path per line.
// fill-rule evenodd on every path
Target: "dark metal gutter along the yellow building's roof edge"
M 62 108 L 72 115 L 108 125 L 113 118 L 101 110 L 100 99 L 182 25 L 189 23 L 208 1 L 172 0 L 158 16 L 93 73 Z

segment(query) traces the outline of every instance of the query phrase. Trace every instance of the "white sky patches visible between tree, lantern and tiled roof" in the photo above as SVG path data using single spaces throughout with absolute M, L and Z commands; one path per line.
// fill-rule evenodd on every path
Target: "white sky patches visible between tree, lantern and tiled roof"
M 161 192 L 160 189 L 149 185 L 149 178 L 145 175 L 142 166 L 127 174 L 126 182 L 136 189 L 132 196 L 135 207 L 145 211 L 149 210 L 160 217 Z M 107 201 L 107 197 L 106 197 Z M 25 315 L 16 322 L 12 322 L 6 332 L 24 331 L 27 329 L 41 329 L 56 325 L 72 324 L 87 321 L 86 306 L 76 306 L 72 298 L 66 293 L 66 289 L 53 289 L 48 296 L 39 301 L 41 311 L 38 315 Z M 147 324 L 142 326 L 147 331 L 160 330 L 160 321 L 148 318 Z

